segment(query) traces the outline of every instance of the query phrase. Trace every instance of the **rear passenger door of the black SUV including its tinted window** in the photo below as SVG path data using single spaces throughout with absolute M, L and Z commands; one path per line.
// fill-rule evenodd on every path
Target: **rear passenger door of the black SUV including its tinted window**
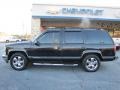
M 64 31 L 62 57 L 63 58 L 80 58 L 84 50 L 83 33 L 81 31 Z

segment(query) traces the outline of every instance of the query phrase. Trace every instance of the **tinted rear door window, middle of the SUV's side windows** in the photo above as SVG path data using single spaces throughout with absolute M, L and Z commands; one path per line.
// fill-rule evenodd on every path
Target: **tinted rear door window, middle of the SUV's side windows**
M 65 43 L 83 43 L 82 33 L 80 31 L 66 31 Z

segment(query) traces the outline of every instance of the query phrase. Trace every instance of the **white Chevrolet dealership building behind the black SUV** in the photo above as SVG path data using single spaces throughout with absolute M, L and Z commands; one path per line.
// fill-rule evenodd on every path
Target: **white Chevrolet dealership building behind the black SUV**
M 33 4 L 32 34 L 50 27 L 103 28 L 119 32 L 120 8 Z

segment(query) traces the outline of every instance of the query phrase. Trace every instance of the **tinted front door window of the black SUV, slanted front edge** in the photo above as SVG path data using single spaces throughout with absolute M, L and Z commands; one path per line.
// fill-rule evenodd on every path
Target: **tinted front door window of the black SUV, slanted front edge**
M 40 43 L 59 43 L 59 32 L 47 32 L 38 39 Z

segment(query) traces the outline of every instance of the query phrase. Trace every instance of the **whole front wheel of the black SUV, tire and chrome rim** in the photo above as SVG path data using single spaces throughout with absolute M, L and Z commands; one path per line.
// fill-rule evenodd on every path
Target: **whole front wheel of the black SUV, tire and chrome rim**
M 10 58 L 10 65 L 14 70 L 21 71 L 26 69 L 28 60 L 22 53 L 15 53 Z

